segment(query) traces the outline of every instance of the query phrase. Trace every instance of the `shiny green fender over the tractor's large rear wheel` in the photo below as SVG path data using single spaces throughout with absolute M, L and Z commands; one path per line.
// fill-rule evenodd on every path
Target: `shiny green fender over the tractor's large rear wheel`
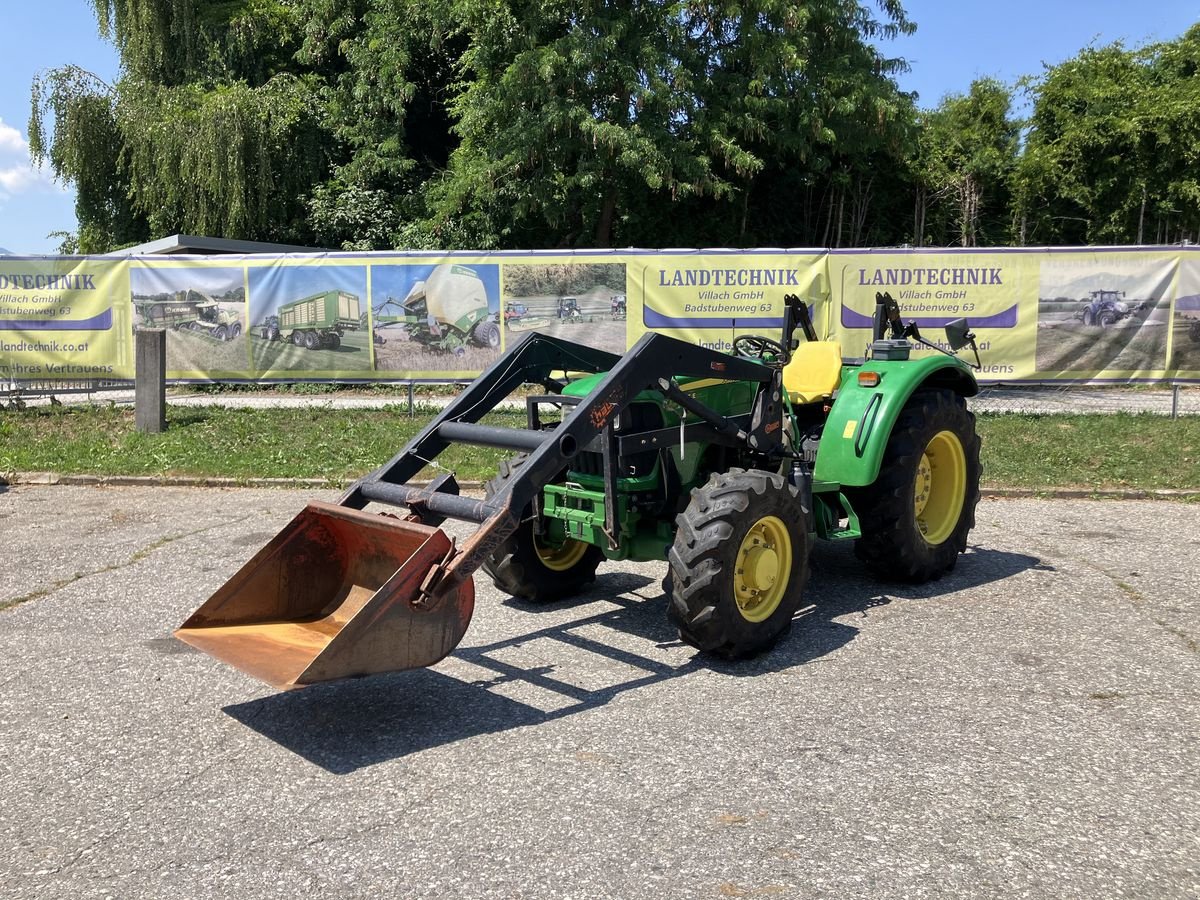
M 878 385 L 859 385 L 862 372 L 878 372 Z M 922 388 L 949 389 L 964 397 L 979 392 L 970 366 L 941 354 L 910 360 L 869 360 L 862 366 L 844 368 L 841 386 L 821 433 L 814 479 L 850 487 L 872 484 L 880 474 L 883 450 L 900 410 Z

